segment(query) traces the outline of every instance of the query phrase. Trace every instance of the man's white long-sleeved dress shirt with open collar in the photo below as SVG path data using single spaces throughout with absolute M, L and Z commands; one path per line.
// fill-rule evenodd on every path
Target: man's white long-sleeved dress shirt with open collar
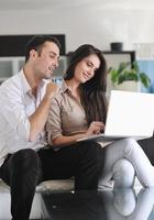
M 29 116 L 36 110 L 45 88 L 46 81 L 43 80 L 35 98 L 23 70 L 0 86 L 0 166 L 9 153 L 22 148 L 38 150 L 46 144 L 45 131 L 34 142 L 29 141 Z

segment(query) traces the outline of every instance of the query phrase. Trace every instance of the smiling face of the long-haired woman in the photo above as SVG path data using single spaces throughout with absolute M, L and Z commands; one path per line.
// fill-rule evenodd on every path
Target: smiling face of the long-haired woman
M 95 76 L 99 66 L 99 57 L 96 54 L 91 54 L 77 64 L 74 78 L 78 80 L 78 82 L 85 84 Z

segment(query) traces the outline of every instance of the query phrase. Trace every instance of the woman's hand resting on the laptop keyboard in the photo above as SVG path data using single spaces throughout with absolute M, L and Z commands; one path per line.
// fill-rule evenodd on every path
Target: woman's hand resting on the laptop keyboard
M 100 121 L 92 121 L 86 132 L 87 135 L 99 134 L 100 131 L 105 130 L 105 124 Z

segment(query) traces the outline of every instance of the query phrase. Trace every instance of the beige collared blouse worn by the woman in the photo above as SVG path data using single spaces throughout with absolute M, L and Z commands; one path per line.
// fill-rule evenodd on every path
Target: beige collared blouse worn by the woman
M 51 102 L 48 120 L 46 123 L 48 142 L 59 135 L 84 133 L 88 129 L 85 110 L 80 102 L 72 95 L 65 84 Z

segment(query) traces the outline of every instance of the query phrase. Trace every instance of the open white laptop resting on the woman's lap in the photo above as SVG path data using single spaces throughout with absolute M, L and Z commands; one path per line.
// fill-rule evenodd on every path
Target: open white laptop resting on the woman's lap
M 123 138 L 141 140 L 152 136 L 153 131 L 154 95 L 112 90 L 105 133 L 78 141 L 116 141 Z

